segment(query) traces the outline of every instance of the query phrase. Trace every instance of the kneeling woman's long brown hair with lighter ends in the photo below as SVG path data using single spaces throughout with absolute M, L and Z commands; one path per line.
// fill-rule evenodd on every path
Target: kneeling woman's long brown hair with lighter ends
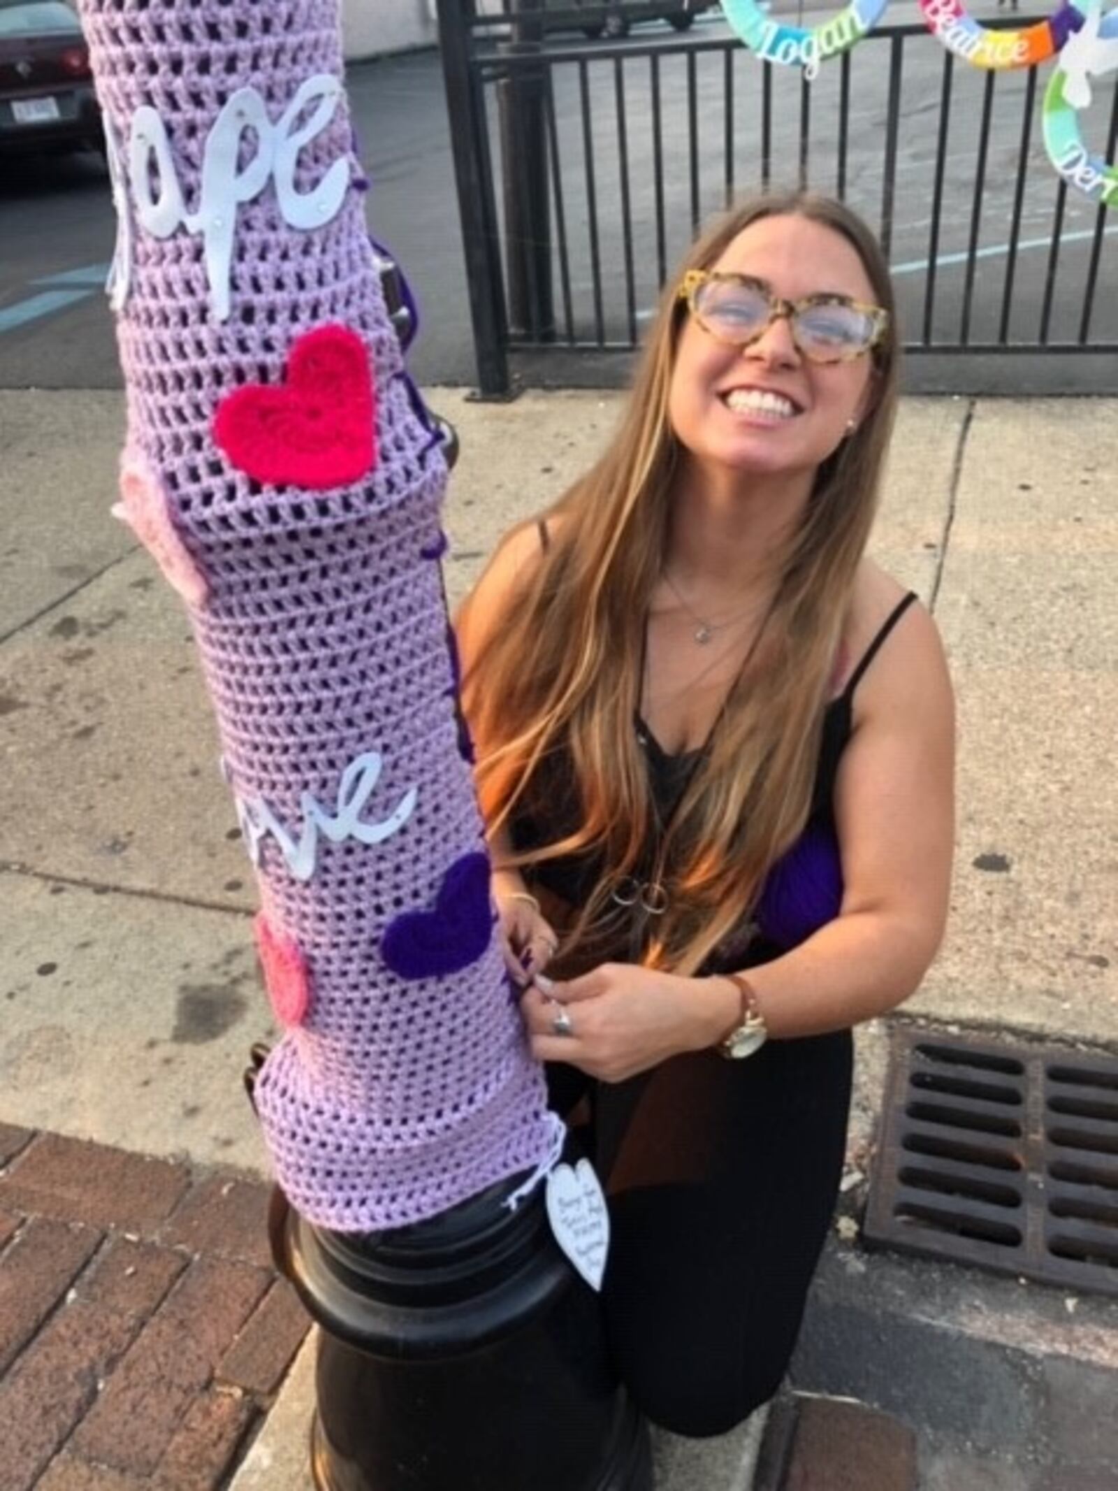
M 464 680 L 464 707 L 490 832 L 532 799 L 540 762 L 566 747 L 578 829 L 508 863 L 593 851 L 605 871 L 565 938 L 590 945 L 616 912 L 611 887 L 647 863 L 650 793 L 634 731 L 642 629 L 668 537 L 675 435 L 668 386 L 686 307 L 677 288 L 714 265 L 762 218 L 795 215 L 841 234 L 859 253 L 890 328 L 875 350 L 872 407 L 818 468 L 799 529 L 778 555 L 778 584 L 754 665 L 730 689 L 710 750 L 677 808 L 660 863 L 668 911 L 644 962 L 693 974 L 750 914 L 769 866 L 802 833 L 823 711 L 859 561 L 877 510 L 897 398 L 888 268 L 866 225 L 838 201 L 769 194 L 720 218 L 692 248 L 660 301 L 623 420 L 593 468 L 544 516 L 553 541 L 511 596 Z

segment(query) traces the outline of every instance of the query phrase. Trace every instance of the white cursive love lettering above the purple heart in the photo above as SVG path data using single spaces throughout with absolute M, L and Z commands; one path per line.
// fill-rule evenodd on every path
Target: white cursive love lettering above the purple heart
M 234 795 L 237 822 L 252 863 L 259 868 L 262 841 L 271 838 L 295 880 L 310 880 L 315 874 L 319 835 L 328 838 L 331 844 L 341 844 L 347 838 L 353 838 L 359 844 L 383 844 L 411 817 L 417 793 L 414 787 L 408 787 L 398 807 L 386 819 L 379 823 L 365 823 L 361 819 L 361 811 L 380 780 L 380 751 L 374 750 L 352 760 L 341 772 L 337 810 L 332 814 L 326 813 L 310 792 L 304 792 L 300 798 L 303 832 L 298 839 L 286 830 L 267 802 L 249 802 Z

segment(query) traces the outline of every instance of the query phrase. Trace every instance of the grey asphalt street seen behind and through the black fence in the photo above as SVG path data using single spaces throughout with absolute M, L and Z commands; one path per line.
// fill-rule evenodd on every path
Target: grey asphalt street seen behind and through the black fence
M 990 0 L 982 0 L 990 10 Z M 786 10 L 786 6 L 780 7 Z M 803 16 L 812 24 L 824 12 Z M 894 3 L 888 22 L 917 19 L 912 0 Z M 704 16 L 692 36 L 726 34 L 717 15 Z M 575 39 L 571 39 L 575 40 Z M 562 45 L 562 42 L 560 42 Z M 650 51 L 657 52 L 663 231 L 657 233 L 656 130 Z M 882 221 L 890 51 L 900 64 L 896 182 L 891 209 L 891 262 L 909 338 L 927 325 L 933 340 L 956 341 L 969 301 L 972 340 L 1000 331 L 1009 225 L 1020 163 L 1024 160 L 1021 248 L 1014 264 L 1011 340 L 1035 340 L 1045 285 L 1052 276 L 1049 338 L 1075 340 L 1081 330 L 1096 209 L 1069 192 L 1052 270 L 1049 243 L 1057 212 L 1057 177 L 1040 137 L 1040 98 L 1048 69 L 1038 75 L 1029 103 L 1023 73 L 990 75 L 951 67 L 951 101 L 944 154 L 942 210 L 933 213 L 947 54 L 926 34 L 896 42 L 871 34 L 851 54 L 845 136 L 847 197 L 869 221 Z M 689 66 L 693 66 L 695 137 L 690 127 Z M 695 219 L 720 209 L 727 194 L 765 179 L 763 69 L 744 49 L 732 55 L 732 119 L 727 128 L 727 69 L 723 51 L 699 51 L 692 63 L 663 28 L 634 31 L 617 49 L 599 46 L 586 69 L 593 161 L 593 213 L 586 177 L 580 67 L 553 70 L 563 228 L 569 255 L 569 321 L 562 276 L 555 276 L 560 335 L 607 340 L 642 325 L 656 301 L 663 250 L 668 267 L 686 248 Z M 798 70 L 774 67 L 769 179 L 793 183 L 802 154 L 812 186 L 835 189 L 839 161 L 841 69 L 823 67 L 805 88 Z M 1109 116 L 1114 79 L 1096 81 L 1091 119 L 1097 133 Z M 462 234 L 450 157 L 450 124 L 435 52 L 417 52 L 350 67 L 349 89 L 362 160 L 371 182 L 367 212 L 373 234 L 389 245 L 417 286 L 422 330 L 411 353 L 422 383 L 471 383 L 474 358 Z M 496 106 L 490 106 L 492 151 L 499 163 Z M 808 113 L 805 119 L 805 97 Z M 619 107 L 623 100 L 623 110 Z M 981 119 L 990 133 L 981 191 Z M 1030 121 L 1023 145 L 1023 124 Z M 620 122 L 625 130 L 622 170 Z M 805 131 L 806 122 L 806 131 Z M 802 140 L 806 134 L 806 148 Z M 1102 148 L 1102 140 L 1096 148 Z M 499 194 L 498 194 L 499 197 Z M 626 245 L 623 203 L 632 236 Z M 978 201 L 978 212 L 975 203 Z M 592 273 L 592 218 L 601 265 L 596 304 Z M 935 233 L 938 230 L 938 242 Z M 104 167 L 94 155 L 42 157 L 0 163 L 0 388 L 119 386 L 110 316 L 100 294 L 112 256 L 113 212 Z M 1118 227 L 1108 227 L 1099 285 L 1118 273 Z M 967 295 L 966 258 L 978 249 Z M 929 312 L 927 267 L 935 258 L 935 300 Z M 626 262 L 632 264 L 626 273 Z M 601 315 L 601 322 L 599 322 Z M 1096 297 L 1091 338 L 1118 335 L 1118 301 Z

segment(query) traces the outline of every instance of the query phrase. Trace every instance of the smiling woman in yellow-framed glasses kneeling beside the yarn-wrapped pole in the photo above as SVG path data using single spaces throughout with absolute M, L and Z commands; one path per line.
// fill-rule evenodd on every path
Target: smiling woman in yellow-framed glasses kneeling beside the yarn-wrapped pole
M 684 1434 L 780 1382 L 850 1027 L 944 929 L 951 687 L 865 556 L 896 386 L 869 230 L 745 204 L 668 286 L 605 455 L 459 619 L 522 1014 L 610 1197 L 614 1354 Z

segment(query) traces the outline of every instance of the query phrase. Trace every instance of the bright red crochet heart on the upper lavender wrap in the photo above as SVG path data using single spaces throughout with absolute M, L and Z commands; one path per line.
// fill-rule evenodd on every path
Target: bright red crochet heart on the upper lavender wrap
M 256 482 L 320 492 L 373 470 L 376 412 L 365 343 L 347 327 L 319 327 L 292 344 L 282 388 L 239 388 L 221 401 L 213 440 Z

